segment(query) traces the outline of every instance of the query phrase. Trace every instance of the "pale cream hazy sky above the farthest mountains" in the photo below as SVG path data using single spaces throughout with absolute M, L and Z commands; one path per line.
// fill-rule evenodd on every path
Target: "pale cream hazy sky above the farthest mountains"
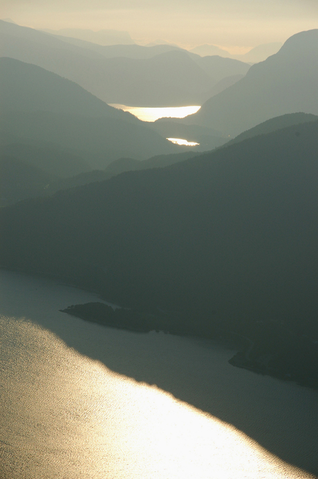
M 113 28 L 183 46 L 252 47 L 318 28 L 318 0 L 0 0 L 0 17 L 35 28 Z

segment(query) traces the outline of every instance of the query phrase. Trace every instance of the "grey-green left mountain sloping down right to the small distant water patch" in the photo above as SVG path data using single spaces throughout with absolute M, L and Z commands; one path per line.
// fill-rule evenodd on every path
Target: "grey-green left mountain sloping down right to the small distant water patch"
M 2 144 L 53 143 L 79 154 L 89 169 L 122 156 L 180 151 L 133 115 L 55 73 L 11 58 L 1 58 L 0 66 Z

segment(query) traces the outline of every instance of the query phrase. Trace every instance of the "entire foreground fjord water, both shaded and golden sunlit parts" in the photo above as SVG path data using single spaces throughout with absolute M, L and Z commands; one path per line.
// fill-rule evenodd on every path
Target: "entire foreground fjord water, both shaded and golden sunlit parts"
M 316 391 L 234 368 L 214 343 L 59 312 L 93 293 L 10 271 L 0 284 L 1 479 L 317 471 Z

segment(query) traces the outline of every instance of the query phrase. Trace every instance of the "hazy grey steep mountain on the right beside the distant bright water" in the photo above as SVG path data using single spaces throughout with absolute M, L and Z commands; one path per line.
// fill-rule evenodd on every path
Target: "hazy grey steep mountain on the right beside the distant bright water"
M 297 33 L 279 53 L 253 65 L 242 80 L 183 122 L 233 137 L 274 116 L 297 111 L 318 114 L 317 82 L 318 30 Z

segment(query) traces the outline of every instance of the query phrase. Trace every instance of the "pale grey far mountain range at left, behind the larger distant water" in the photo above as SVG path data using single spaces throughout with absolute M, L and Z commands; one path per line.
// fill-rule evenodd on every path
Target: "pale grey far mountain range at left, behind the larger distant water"
M 53 71 L 112 104 L 201 105 L 206 93 L 223 76 L 243 74 L 249 69 L 236 60 L 205 60 L 178 49 L 141 60 L 106 58 L 96 50 L 64 42 L 62 38 L 0 21 L 3 57 Z

